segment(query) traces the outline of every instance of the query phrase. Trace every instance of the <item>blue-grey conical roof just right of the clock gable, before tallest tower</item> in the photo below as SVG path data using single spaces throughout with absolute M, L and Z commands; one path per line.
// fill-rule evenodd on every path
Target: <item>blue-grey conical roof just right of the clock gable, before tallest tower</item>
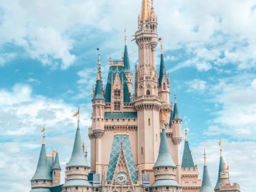
M 175 166 L 174 161 L 171 159 L 171 154 L 167 144 L 165 129 L 162 129 L 162 132 L 161 132 L 159 155 L 156 159 L 156 163 L 154 164 L 154 168 L 159 166 Z

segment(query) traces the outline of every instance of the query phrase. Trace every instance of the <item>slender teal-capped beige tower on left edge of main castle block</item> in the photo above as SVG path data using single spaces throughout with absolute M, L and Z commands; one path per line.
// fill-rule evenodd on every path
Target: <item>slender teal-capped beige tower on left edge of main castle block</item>
M 104 115 L 105 115 L 105 97 L 102 92 L 102 77 L 100 70 L 100 53 L 98 54 L 97 63 L 97 80 L 95 91 L 92 97 L 92 133 L 90 134 L 91 149 L 95 153 L 91 154 L 92 172 L 101 170 L 101 154 L 102 154 L 102 141 L 101 137 L 104 133 Z

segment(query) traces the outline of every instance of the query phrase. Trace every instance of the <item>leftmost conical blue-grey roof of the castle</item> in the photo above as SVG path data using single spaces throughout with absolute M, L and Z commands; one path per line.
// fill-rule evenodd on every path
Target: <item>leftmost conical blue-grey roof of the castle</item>
M 46 157 L 46 144 L 42 144 L 40 156 L 38 159 L 38 166 L 36 172 L 31 178 L 34 180 L 53 180 L 51 170 L 49 170 L 50 162 Z

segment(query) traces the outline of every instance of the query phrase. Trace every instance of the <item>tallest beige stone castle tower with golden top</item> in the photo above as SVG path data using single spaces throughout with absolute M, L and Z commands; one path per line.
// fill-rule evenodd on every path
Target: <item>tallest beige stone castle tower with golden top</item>
M 139 68 L 136 77 L 136 97 L 134 107 L 138 119 L 138 163 L 142 172 L 154 177 L 153 166 L 159 150 L 159 111 L 161 97 L 158 96 L 158 78 L 155 68 L 155 48 L 158 43 L 156 33 L 157 18 L 154 5 L 149 0 L 142 1 L 142 13 L 138 19 L 138 31 L 135 40 L 139 48 Z

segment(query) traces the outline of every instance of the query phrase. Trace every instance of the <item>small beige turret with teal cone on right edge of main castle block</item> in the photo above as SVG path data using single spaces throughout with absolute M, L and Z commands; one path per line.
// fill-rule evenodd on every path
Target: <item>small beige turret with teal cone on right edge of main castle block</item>
M 180 144 L 181 143 L 181 122 L 182 119 L 178 114 L 178 104 L 177 104 L 177 94 L 175 92 L 174 95 L 174 110 L 171 114 L 171 121 L 172 121 L 172 129 L 173 129 L 173 141 L 174 144 Z

